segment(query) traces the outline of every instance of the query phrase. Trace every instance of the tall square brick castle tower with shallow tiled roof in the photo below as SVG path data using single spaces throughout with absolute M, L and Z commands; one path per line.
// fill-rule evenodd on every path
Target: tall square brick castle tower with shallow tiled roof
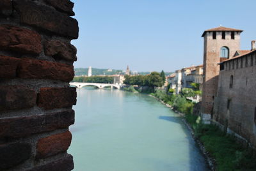
M 201 113 L 206 117 L 212 114 L 214 98 L 218 89 L 218 75 L 221 61 L 233 57 L 240 49 L 242 30 L 216 27 L 204 31 L 204 80 Z

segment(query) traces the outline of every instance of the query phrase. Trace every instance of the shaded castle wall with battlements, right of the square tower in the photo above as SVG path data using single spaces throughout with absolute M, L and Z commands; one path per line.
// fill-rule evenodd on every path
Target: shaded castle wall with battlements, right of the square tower
M 223 65 L 225 69 L 219 75 L 213 120 L 256 147 L 256 51 Z M 230 87 L 231 76 L 233 84 Z

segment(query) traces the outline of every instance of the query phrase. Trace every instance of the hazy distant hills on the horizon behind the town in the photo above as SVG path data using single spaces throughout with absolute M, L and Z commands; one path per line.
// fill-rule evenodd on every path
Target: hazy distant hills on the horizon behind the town
M 88 75 L 88 68 L 75 68 L 75 75 L 82 76 Z M 173 72 L 165 72 L 165 75 L 170 75 Z M 122 70 L 112 70 L 112 69 L 99 69 L 99 68 L 92 68 L 92 75 L 116 75 L 116 74 L 125 74 Z M 138 72 L 139 75 L 147 75 L 150 72 Z

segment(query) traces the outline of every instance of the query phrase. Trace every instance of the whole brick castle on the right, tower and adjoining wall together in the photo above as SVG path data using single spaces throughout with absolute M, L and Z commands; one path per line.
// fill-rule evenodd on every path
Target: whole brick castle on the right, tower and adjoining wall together
M 209 29 L 204 37 L 201 115 L 256 146 L 256 50 L 240 50 L 239 29 Z M 206 117 L 205 117 L 206 116 Z

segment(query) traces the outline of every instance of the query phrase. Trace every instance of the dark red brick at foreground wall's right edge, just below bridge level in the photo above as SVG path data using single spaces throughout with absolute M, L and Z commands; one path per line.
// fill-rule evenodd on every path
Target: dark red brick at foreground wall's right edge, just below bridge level
M 44 87 L 40 89 L 37 100 L 38 107 L 46 110 L 66 108 L 76 105 L 75 87 Z

